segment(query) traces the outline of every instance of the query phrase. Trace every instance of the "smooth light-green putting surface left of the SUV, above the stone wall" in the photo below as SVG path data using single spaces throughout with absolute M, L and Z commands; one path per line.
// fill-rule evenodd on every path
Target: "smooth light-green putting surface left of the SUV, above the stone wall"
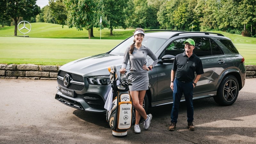
M 1 64 L 63 65 L 108 52 L 122 40 L 1 37 Z

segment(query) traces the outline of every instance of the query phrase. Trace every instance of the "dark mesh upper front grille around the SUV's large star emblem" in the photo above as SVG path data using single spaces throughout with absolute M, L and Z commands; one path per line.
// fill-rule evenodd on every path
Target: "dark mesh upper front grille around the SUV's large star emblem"
M 58 76 L 64 77 L 66 74 L 70 75 L 70 77 L 73 79 L 73 81 L 84 82 L 84 77 L 83 77 L 83 76 L 77 75 L 77 74 L 73 74 L 73 73 L 68 73 L 68 72 L 62 71 L 62 70 L 59 70 Z M 58 84 L 60 84 L 62 87 L 67 88 L 67 87 L 64 85 L 63 80 L 57 78 L 57 82 L 58 82 Z M 82 90 L 84 89 L 84 85 L 71 83 L 71 84 L 68 86 L 68 89 L 74 90 L 74 91 L 82 91 Z

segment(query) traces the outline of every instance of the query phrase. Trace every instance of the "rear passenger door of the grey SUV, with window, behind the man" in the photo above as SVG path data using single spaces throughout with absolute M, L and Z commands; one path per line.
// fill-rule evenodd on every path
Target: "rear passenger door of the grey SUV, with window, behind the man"
M 196 45 L 194 53 L 202 60 L 204 74 L 201 75 L 194 89 L 194 97 L 216 93 L 220 74 L 227 68 L 228 61 L 216 44 L 209 37 L 191 37 Z

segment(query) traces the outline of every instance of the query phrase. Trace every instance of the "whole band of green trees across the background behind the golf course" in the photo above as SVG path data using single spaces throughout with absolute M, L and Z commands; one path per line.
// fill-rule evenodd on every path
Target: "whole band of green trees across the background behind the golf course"
M 34 4 L 36 0 L 0 2 L 0 24 L 6 24 L 6 2 Z M 15 5 L 15 4 L 14 4 Z M 36 7 L 36 5 L 33 5 Z M 22 9 L 19 5 L 16 9 Z M 3 9 L 3 10 L 2 10 Z M 36 11 L 36 9 L 35 9 Z M 29 12 L 25 12 L 29 13 Z M 34 12 L 35 14 L 36 12 Z M 2 14 L 2 15 L 1 15 Z M 9 15 L 10 16 L 10 15 Z M 8 17 L 8 16 L 7 16 Z M 30 14 L 25 17 L 32 17 Z M 102 17 L 102 23 L 100 23 Z M 32 20 L 32 19 L 31 19 Z M 33 21 L 33 20 L 32 20 Z M 30 21 L 31 22 L 31 21 Z M 174 29 L 184 31 L 226 31 L 256 36 L 255 0 L 49 0 L 36 22 L 88 30 L 93 28 Z

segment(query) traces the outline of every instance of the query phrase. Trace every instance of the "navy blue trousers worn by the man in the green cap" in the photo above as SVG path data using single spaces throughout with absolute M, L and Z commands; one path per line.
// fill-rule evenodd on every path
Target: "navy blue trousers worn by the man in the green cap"
M 173 82 L 173 104 L 171 112 L 171 122 L 177 123 L 180 99 L 184 93 L 186 105 L 187 105 L 187 121 L 193 122 L 194 120 L 194 107 L 193 107 L 193 92 L 194 86 L 193 82 L 182 82 L 175 79 Z

